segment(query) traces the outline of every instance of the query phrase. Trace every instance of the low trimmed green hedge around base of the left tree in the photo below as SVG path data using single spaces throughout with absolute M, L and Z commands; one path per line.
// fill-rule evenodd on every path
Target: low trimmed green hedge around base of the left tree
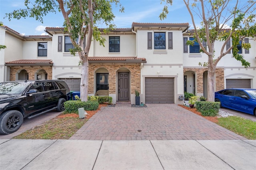
M 64 103 L 65 111 L 64 113 L 76 113 L 78 114 L 78 108 L 83 107 L 86 111 L 95 111 L 99 107 L 97 101 L 79 101 L 79 100 L 70 100 Z

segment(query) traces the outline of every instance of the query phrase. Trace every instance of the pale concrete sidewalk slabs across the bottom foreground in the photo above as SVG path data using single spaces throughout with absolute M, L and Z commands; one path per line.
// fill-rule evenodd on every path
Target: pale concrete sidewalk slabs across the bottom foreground
M 0 140 L 0 170 L 255 170 L 256 140 Z

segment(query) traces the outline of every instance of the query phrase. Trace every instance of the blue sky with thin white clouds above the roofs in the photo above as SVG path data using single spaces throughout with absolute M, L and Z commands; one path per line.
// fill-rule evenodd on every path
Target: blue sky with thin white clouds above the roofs
M 162 12 L 164 4 L 160 4 L 160 2 L 160 0 L 120 0 L 124 6 L 123 13 L 119 12 L 119 8 L 113 6 L 116 28 L 131 28 L 132 22 L 192 24 L 183 0 L 174 0 L 173 5 L 169 7 L 167 18 L 161 21 L 159 14 Z M 11 19 L 11 21 L 4 18 L 6 13 L 19 9 L 25 9 L 24 0 L 0 0 L 0 21 L 22 35 L 47 35 L 44 32 L 45 27 L 63 27 L 64 19 L 59 12 L 49 13 L 43 18 L 44 23 L 36 21 L 34 18 Z

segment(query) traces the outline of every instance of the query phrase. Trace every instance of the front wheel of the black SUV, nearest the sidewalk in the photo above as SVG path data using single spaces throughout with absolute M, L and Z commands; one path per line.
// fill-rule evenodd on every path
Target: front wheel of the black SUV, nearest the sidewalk
M 6 111 L 0 116 L 0 134 L 16 132 L 23 123 L 23 115 L 19 111 Z

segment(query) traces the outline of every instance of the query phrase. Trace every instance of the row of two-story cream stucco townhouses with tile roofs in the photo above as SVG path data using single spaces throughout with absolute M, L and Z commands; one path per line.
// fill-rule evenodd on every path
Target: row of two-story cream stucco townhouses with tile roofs
M 191 40 L 188 23 L 132 23 L 131 28 L 102 34 L 105 47 L 93 41 L 89 52 L 89 95 L 109 95 L 116 101 L 182 104 L 184 91 L 207 97 L 207 68 L 198 63 L 208 58 Z M 22 36 L 0 27 L 0 81 L 62 79 L 72 91 L 80 90 L 81 66 L 64 28 L 46 28 L 48 36 Z M 216 70 L 216 91 L 229 87 L 256 88 L 256 41 L 245 38 L 249 50 L 240 53 L 251 63 L 242 67 L 232 54 L 224 56 Z M 84 45 L 85 45 L 84 41 Z M 228 44 L 230 45 L 230 43 Z M 222 42 L 216 42 L 219 53 Z

